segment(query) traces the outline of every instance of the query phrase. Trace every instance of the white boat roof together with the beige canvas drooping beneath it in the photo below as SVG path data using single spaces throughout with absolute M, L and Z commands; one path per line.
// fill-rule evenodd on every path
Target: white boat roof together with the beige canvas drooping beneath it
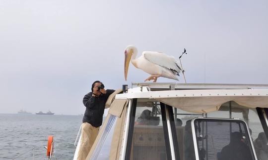
M 171 85 L 173 85 L 173 88 Z M 182 87 L 185 88 L 183 89 Z M 254 89 L 253 87 L 267 89 Z M 159 101 L 194 113 L 217 111 L 222 104 L 229 101 L 234 101 L 247 108 L 268 108 L 268 85 L 175 84 L 174 87 L 174 83 L 150 83 L 149 85 L 139 84 L 138 87 L 129 89 L 127 93 L 116 95 L 116 99 L 133 98 L 145 99 L 145 101 Z

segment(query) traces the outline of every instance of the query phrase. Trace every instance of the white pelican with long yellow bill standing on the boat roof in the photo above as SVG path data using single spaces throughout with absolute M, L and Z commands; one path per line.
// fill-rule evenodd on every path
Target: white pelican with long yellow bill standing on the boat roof
M 144 51 L 138 58 L 136 58 L 136 55 L 137 48 L 128 45 L 125 49 L 125 80 L 128 77 L 130 61 L 136 68 L 151 75 L 146 80 L 156 82 L 159 77 L 179 80 L 177 76 L 179 76 L 181 68 L 174 57 L 153 51 Z

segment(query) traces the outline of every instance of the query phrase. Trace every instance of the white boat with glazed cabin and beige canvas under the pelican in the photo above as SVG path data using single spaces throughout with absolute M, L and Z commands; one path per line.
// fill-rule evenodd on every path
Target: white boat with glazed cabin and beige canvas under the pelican
M 133 83 L 107 103 L 108 115 L 86 160 L 238 160 L 236 155 L 259 160 L 268 156 L 258 145 L 268 142 L 267 84 Z M 150 115 L 140 123 L 145 110 Z M 176 125 L 177 117 L 185 113 L 201 116 Z M 78 134 L 73 160 L 80 138 Z M 234 143 L 237 149 L 226 152 Z

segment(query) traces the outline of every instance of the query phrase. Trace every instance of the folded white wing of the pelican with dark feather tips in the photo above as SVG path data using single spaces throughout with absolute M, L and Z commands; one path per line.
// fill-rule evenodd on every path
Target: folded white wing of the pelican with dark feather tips
M 179 75 L 182 70 L 179 67 L 178 61 L 173 56 L 166 55 L 165 53 L 144 51 L 142 52 L 143 57 L 151 63 L 167 68 L 174 74 Z

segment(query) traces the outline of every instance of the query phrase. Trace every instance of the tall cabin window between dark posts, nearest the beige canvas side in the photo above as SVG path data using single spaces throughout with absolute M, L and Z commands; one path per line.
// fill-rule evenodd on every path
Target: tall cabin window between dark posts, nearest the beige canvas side
M 160 104 L 137 100 L 131 160 L 167 160 Z

